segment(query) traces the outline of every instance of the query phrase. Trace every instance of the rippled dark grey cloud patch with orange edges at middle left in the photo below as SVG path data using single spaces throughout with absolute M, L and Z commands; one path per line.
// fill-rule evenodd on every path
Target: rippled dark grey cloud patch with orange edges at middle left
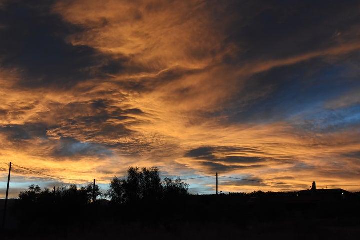
M 0 133 L 5 135 L 10 142 L 31 140 L 36 137 L 43 140 L 72 137 L 81 141 L 94 141 L 96 139 L 103 144 L 110 140 L 108 147 L 117 147 L 113 140 L 132 135 L 135 131 L 130 130 L 129 125 L 139 123 L 140 120 L 135 117 L 146 113 L 139 108 L 120 108 L 113 104 L 113 101 L 105 99 L 68 104 L 48 103 L 51 110 L 31 114 L 33 115 L 32 121 L 25 124 L 2 124 Z M 4 117 L 8 115 L 7 112 L 7 110 L 3 110 Z M 11 110 L 11 114 L 20 113 L 29 115 L 26 111 Z M 119 121 L 123 120 L 128 122 L 119 123 Z M 55 141 L 52 143 L 55 144 Z M 65 152 L 64 148 L 71 148 L 72 145 L 74 144 L 64 144 L 56 154 L 67 154 L 61 152 Z M 83 147 L 84 145 L 79 144 L 78 149 L 80 149 L 81 154 L 84 154 L 84 149 L 87 150 Z M 73 150 L 70 150 L 70 152 L 73 152 Z

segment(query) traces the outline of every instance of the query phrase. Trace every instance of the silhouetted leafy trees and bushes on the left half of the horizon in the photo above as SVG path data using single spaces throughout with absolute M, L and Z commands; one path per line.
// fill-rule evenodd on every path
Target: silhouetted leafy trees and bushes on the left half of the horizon
M 33 203 L 65 203 L 87 204 L 92 199 L 106 197 L 111 202 L 130 204 L 139 202 L 155 202 L 174 199 L 188 194 L 188 184 L 180 178 L 175 180 L 165 177 L 161 180 L 158 167 L 139 168 L 129 167 L 124 178 L 114 177 L 107 192 L 103 194 L 95 184 L 77 187 L 70 184 L 68 187 L 55 187 L 53 190 L 38 185 L 30 185 L 27 191 L 21 191 L 19 199 Z M 95 188 L 95 189 L 94 189 Z

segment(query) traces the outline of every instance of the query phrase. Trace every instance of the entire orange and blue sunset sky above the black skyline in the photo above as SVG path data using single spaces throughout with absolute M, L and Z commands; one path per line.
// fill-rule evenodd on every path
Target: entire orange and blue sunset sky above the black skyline
M 0 197 L 10 161 L 11 197 L 129 166 L 256 180 L 219 177 L 225 193 L 360 190 L 359 12 L 358 0 L 0 0 Z M 215 192 L 215 177 L 186 182 Z

